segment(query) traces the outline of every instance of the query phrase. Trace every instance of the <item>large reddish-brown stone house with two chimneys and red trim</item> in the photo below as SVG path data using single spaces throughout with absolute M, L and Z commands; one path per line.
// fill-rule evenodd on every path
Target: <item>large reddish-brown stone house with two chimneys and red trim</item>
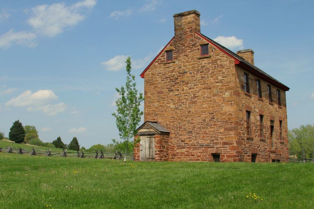
M 285 162 L 285 86 L 200 32 L 200 13 L 173 15 L 174 37 L 142 72 L 144 121 L 135 160 Z

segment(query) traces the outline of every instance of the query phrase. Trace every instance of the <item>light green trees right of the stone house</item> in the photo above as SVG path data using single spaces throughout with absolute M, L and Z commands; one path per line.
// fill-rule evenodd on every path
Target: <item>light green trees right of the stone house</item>
M 289 154 L 298 158 L 314 158 L 314 124 L 301 125 L 288 132 Z

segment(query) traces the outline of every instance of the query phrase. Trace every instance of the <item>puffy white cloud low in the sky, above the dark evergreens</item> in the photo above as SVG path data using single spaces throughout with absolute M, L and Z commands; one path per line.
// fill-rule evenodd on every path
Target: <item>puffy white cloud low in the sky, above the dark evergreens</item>
M 6 102 L 5 106 L 27 107 L 27 111 L 41 110 L 46 115 L 52 116 L 58 112 L 63 112 L 66 108 L 63 102 L 50 104 L 51 101 L 57 100 L 57 98 L 57 95 L 51 90 L 39 90 L 35 93 L 27 90 Z

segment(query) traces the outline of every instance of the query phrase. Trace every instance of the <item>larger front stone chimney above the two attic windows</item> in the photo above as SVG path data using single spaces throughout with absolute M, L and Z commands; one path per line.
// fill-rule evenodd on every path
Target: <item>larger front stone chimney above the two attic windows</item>
M 174 14 L 175 37 L 185 39 L 194 36 L 195 32 L 200 33 L 200 15 L 196 10 Z

